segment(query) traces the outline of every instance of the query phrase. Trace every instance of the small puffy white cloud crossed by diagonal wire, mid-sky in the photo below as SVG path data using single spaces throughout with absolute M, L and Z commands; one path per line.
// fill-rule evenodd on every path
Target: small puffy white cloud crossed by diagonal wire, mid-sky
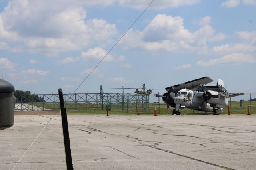
M 106 51 L 101 47 L 90 48 L 86 52 L 82 52 L 81 57 L 86 60 L 98 60 L 100 61 L 105 55 Z M 113 57 L 108 54 L 103 61 L 112 61 Z

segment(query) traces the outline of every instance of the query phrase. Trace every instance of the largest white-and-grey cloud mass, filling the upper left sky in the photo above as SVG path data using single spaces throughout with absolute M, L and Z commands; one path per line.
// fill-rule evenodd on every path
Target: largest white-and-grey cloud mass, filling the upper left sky
M 110 43 L 118 34 L 116 25 L 97 18 L 86 20 L 86 11 L 80 5 L 111 3 L 113 0 L 11 0 L 0 13 L 0 40 L 16 40 L 24 51 L 48 56 L 90 44 Z M 12 48 L 15 45 L 12 44 Z

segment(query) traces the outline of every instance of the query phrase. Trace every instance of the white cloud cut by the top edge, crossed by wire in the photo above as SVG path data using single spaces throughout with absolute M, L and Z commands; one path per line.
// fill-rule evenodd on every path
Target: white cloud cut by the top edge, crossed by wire
M 145 9 L 152 0 L 118 0 L 119 4 L 124 7 L 131 7 L 135 9 Z M 200 0 L 156 0 L 152 3 L 150 8 L 166 9 L 178 6 L 193 5 L 200 2 Z

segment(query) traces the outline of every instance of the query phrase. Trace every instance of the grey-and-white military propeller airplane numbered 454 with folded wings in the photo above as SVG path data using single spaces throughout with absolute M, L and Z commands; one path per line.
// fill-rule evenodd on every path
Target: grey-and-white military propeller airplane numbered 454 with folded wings
M 244 93 L 230 94 L 224 88 L 224 82 L 218 79 L 216 86 L 206 86 L 213 80 L 210 77 L 202 77 L 182 84 L 166 87 L 166 93 L 163 95 L 155 94 L 156 97 L 162 97 L 168 110 L 174 107 L 173 114 L 181 114 L 181 108 L 194 109 L 198 111 L 213 112 L 218 115 L 228 105 L 228 98 Z M 202 92 L 202 93 L 200 93 Z

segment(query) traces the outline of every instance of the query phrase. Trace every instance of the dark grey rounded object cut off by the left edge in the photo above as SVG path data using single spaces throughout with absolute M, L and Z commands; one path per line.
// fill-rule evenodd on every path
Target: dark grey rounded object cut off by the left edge
M 0 130 L 9 128 L 14 123 L 14 108 L 16 103 L 16 97 L 12 95 L 14 92 L 14 86 L 0 79 Z

